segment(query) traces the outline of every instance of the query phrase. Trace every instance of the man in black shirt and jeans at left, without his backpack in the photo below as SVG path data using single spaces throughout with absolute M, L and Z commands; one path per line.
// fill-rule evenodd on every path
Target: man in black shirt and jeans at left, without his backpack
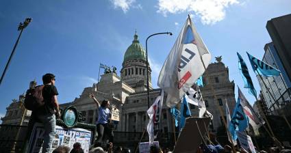
M 38 109 L 35 113 L 37 119 L 42 122 L 45 128 L 44 142 L 42 143 L 42 153 L 49 152 L 51 143 L 55 137 L 55 115 L 60 117 L 60 109 L 58 105 L 58 90 L 55 87 L 55 75 L 47 73 L 42 76 L 45 87 L 42 89 L 42 97 L 45 105 Z

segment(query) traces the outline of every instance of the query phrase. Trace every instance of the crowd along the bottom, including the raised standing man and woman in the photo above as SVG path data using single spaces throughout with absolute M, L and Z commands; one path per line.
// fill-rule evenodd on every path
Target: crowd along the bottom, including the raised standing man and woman
M 42 122 L 44 124 L 45 128 L 45 134 L 44 134 L 44 142 L 42 143 L 42 152 L 50 152 L 51 143 L 53 141 L 53 137 L 55 136 L 55 124 L 56 124 L 56 117 L 60 117 L 60 109 L 58 105 L 58 90 L 55 87 L 55 75 L 53 74 L 45 74 L 42 77 L 43 84 L 42 86 L 36 86 L 31 87 L 27 91 L 26 97 L 29 97 L 29 94 L 34 94 L 36 89 L 38 87 L 41 87 L 42 90 L 42 99 L 45 101 L 45 104 L 38 108 L 34 109 L 31 113 L 31 118 L 29 120 L 29 129 L 32 129 L 35 122 Z M 34 90 L 32 90 L 34 89 Z M 129 150 L 128 148 L 124 148 L 121 146 L 114 146 L 113 145 L 113 131 L 110 128 L 111 121 L 111 112 L 110 112 L 110 101 L 103 100 L 101 103 L 94 97 L 94 94 L 89 94 L 90 98 L 94 100 L 94 102 L 97 105 L 99 115 L 97 120 L 97 141 L 94 145 L 94 148 L 90 148 L 89 152 L 92 153 L 129 153 L 132 150 Z M 28 98 L 27 98 L 28 99 Z M 31 131 L 28 131 L 28 136 L 30 135 Z M 109 142 L 107 145 L 103 146 L 103 136 L 107 135 L 109 137 Z M 210 138 L 211 139 L 211 138 Z M 204 141 L 205 142 L 205 141 Z M 214 143 L 213 143 L 214 142 Z M 271 153 L 277 153 L 277 152 L 291 152 L 290 146 L 283 146 L 277 139 L 273 139 L 274 146 L 271 148 L 264 148 L 262 150 L 259 150 L 255 148 L 255 152 L 271 152 Z M 137 149 L 138 150 L 138 149 Z M 137 150 L 134 150 L 136 152 Z M 156 145 L 151 145 L 150 147 L 151 153 L 169 153 L 171 152 L 168 148 L 159 148 Z M 195 152 L 195 151 L 194 151 Z M 236 145 L 236 148 L 231 148 L 230 145 L 220 145 L 216 139 L 209 140 L 209 143 L 201 143 L 199 145 L 199 148 L 197 148 L 197 153 L 222 153 L 222 152 L 251 152 L 251 150 L 244 150 L 244 148 L 240 148 L 239 145 Z M 254 151 L 253 151 L 254 152 Z M 53 150 L 53 153 L 84 153 L 84 149 L 81 148 L 81 143 L 76 142 L 73 145 L 73 149 L 68 148 L 65 145 L 60 145 L 58 148 L 55 148 Z

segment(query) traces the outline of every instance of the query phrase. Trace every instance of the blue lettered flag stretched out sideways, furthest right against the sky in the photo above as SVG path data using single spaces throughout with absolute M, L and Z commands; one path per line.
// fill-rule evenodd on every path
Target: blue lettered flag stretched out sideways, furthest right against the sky
M 247 52 L 246 52 L 247 53 Z M 266 64 L 264 61 L 261 61 L 260 59 L 257 59 L 247 53 L 249 56 L 249 61 L 251 62 L 251 66 L 253 67 L 253 71 L 256 74 L 263 75 L 265 77 L 273 77 L 280 75 L 280 71 L 276 68 L 273 68 L 272 66 Z

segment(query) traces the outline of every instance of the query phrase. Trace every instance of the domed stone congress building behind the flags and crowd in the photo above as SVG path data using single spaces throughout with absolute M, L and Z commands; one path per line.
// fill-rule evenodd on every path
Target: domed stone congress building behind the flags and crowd
M 116 126 L 116 131 L 142 132 L 144 128 L 147 127 L 148 123 L 146 113 L 148 108 L 147 76 L 146 73 L 143 73 L 147 69 L 144 50 L 141 45 L 138 44 L 137 38 L 137 34 L 135 34 L 133 41 L 134 45 L 131 44 L 131 46 L 127 48 L 125 53 L 126 60 L 123 61 L 123 68 L 121 69 L 121 77 L 114 72 L 102 74 L 99 83 L 94 83 L 92 87 L 86 87 L 79 98 L 75 98 L 73 102 L 64 103 L 60 105 L 60 107 L 64 109 L 68 106 L 74 106 L 84 115 L 86 123 L 96 124 L 98 115 L 97 105 L 92 98 L 88 96 L 92 93 L 99 102 L 104 99 L 110 100 L 110 109 L 119 109 L 119 122 Z M 134 49 L 136 48 L 138 48 L 138 51 L 135 52 Z M 150 69 L 149 81 L 151 81 Z M 221 58 L 208 66 L 206 72 L 203 74 L 203 82 L 205 85 L 201 87 L 202 96 L 205 100 L 207 110 L 214 116 L 209 130 L 215 133 L 218 127 L 223 126 L 221 120 L 222 115 L 220 115 L 218 107 L 221 107 L 225 115 L 225 102 L 228 103 L 230 111 L 233 111 L 236 105 L 234 97 L 235 86 L 233 81 L 229 81 L 229 69 L 221 62 Z M 151 83 L 149 85 L 149 100 L 150 105 L 152 105 L 155 98 L 160 95 L 160 89 L 153 89 Z M 214 96 L 214 93 L 216 96 Z M 164 94 L 164 99 L 166 99 L 166 93 Z M 20 102 L 18 103 L 20 104 Z M 12 118 L 8 122 L 8 117 L 10 117 L 10 112 L 13 111 L 15 113 L 14 110 L 19 110 L 20 107 L 18 103 L 12 102 L 10 107 L 8 107 L 9 109 L 6 116 L 2 118 L 3 124 L 17 123 L 16 120 L 20 117 L 15 117 L 13 123 Z M 199 109 L 197 107 L 191 105 L 190 109 L 193 116 L 198 116 Z M 19 116 L 21 116 L 21 113 L 19 114 Z M 25 116 L 29 117 L 29 115 Z M 160 130 L 165 133 L 173 132 L 173 116 L 170 114 L 170 109 L 166 107 L 165 103 L 162 109 L 161 119 Z

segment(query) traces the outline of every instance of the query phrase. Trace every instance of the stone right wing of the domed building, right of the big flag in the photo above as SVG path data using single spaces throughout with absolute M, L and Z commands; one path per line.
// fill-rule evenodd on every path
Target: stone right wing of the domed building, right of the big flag
M 203 83 L 204 87 L 200 88 L 203 100 L 205 101 L 207 111 L 212 113 L 214 117 L 210 123 L 209 130 L 216 133 L 219 126 L 224 126 L 218 107 L 223 110 L 223 115 L 225 115 L 226 102 L 231 114 L 236 106 L 234 96 L 235 84 L 233 81 L 229 81 L 229 68 L 225 67 L 225 64 L 221 61 L 212 63 L 207 67 L 206 72 L 203 74 Z M 212 90 L 212 87 L 214 90 Z M 191 110 L 192 114 L 198 116 L 197 108 Z

